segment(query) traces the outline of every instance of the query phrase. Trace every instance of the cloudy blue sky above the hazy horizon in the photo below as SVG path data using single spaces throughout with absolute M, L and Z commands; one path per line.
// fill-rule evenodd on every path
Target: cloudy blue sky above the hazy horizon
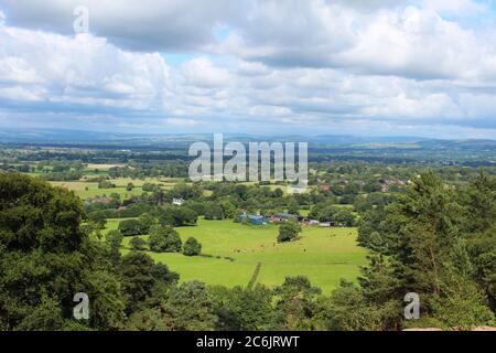
M 496 0 L 0 0 L 1 128 L 496 139 Z

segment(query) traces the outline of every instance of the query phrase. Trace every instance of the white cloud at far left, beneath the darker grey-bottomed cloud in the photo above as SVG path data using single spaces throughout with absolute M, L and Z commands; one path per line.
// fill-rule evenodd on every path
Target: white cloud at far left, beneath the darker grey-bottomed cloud
M 41 92 L 46 103 L 151 109 L 169 68 L 158 54 L 123 52 L 104 39 L 0 26 L 0 84 Z M 43 88 L 43 89 L 41 89 Z M 19 95 L 18 100 L 31 95 Z

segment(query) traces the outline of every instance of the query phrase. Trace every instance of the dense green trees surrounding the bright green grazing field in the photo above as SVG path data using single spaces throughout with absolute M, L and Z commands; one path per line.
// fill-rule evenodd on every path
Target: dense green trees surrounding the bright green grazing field
M 356 172 L 359 167 L 347 168 L 339 172 Z M 326 175 L 334 178 L 334 172 Z M 400 330 L 495 324 L 496 181 L 485 173 L 473 176 L 470 183 L 456 184 L 427 172 L 395 192 L 379 192 L 371 181 L 343 188 L 336 183 L 336 190 L 303 195 L 233 183 L 179 184 L 168 192 L 148 185 L 150 193 L 126 203 L 126 212 L 137 220 L 121 221 L 118 231 L 103 238 L 98 229 L 109 208 L 89 210 L 73 193 L 39 179 L 0 174 L 0 330 Z M 336 206 L 344 195 L 353 199 L 354 212 L 352 205 Z M 185 203 L 166 204 L 172 197 Z M 198 215 L 234 218 L 238 207 L 268 214 L 306 207 L 320 221 L 358 223 L 359 243 L 370 249 L 369 265 L 357 282 L 343 280 L 325 296 L 300 276 L 274 288 L 179 285 L 179 274 L 144 252 L 198 255 L 201 244 L 191 238 L 183 246 L 173 227 L 194 225 Z M 281 223 L 280 240 L 294 239 L 299 227 Z M 125 236 L 140 234 L 150 234 L 149 242 L 133 237 L 130 249 L 121 252 Z M 77 292 L 90 298 L 89 320 L 73 318 Z M 420 296 L 419 321 L 402 315 L 408 292 Z

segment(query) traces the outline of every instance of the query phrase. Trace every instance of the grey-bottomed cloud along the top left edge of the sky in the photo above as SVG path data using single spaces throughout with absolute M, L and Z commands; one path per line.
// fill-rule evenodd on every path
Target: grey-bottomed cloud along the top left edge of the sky
M 74 9 L 89 10 L 89 30 L 140 51 L 192 50 L 215 42 L 215 30 L 236 13 L 230 0 L 0 0 L 9 23 L 74 34 Z

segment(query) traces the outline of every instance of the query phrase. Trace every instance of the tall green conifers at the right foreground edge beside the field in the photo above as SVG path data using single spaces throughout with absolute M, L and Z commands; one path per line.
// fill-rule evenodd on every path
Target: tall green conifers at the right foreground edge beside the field
M 367 310 L 381 318 L 381 329 L 401 325 L 395 319 L 395 302 L 411 291 L 422 298 L 423 320 L 433 320 L 440 327 L 494 322 L 488 306 L 490 276 L 485 275 L 494 272 L 496 258 L 487 256 L 496 245 L 494 221 L 485 220 L 493 212 L 487 208 L 493 206 L 487 195 L 494 194 L 483 186 L 485 192 L 477 195 L 477 188 L 471 188 L 468 193 L 464 189 L 455 193 L 428 172 L 398 194 L 396 202 L 365 215 L 360 243 L 388 256 L 387 264 L 371 258 L 359 289 L 359 295 L 373 303 Z M 476 210 L 479 197 L 484 210 Z

